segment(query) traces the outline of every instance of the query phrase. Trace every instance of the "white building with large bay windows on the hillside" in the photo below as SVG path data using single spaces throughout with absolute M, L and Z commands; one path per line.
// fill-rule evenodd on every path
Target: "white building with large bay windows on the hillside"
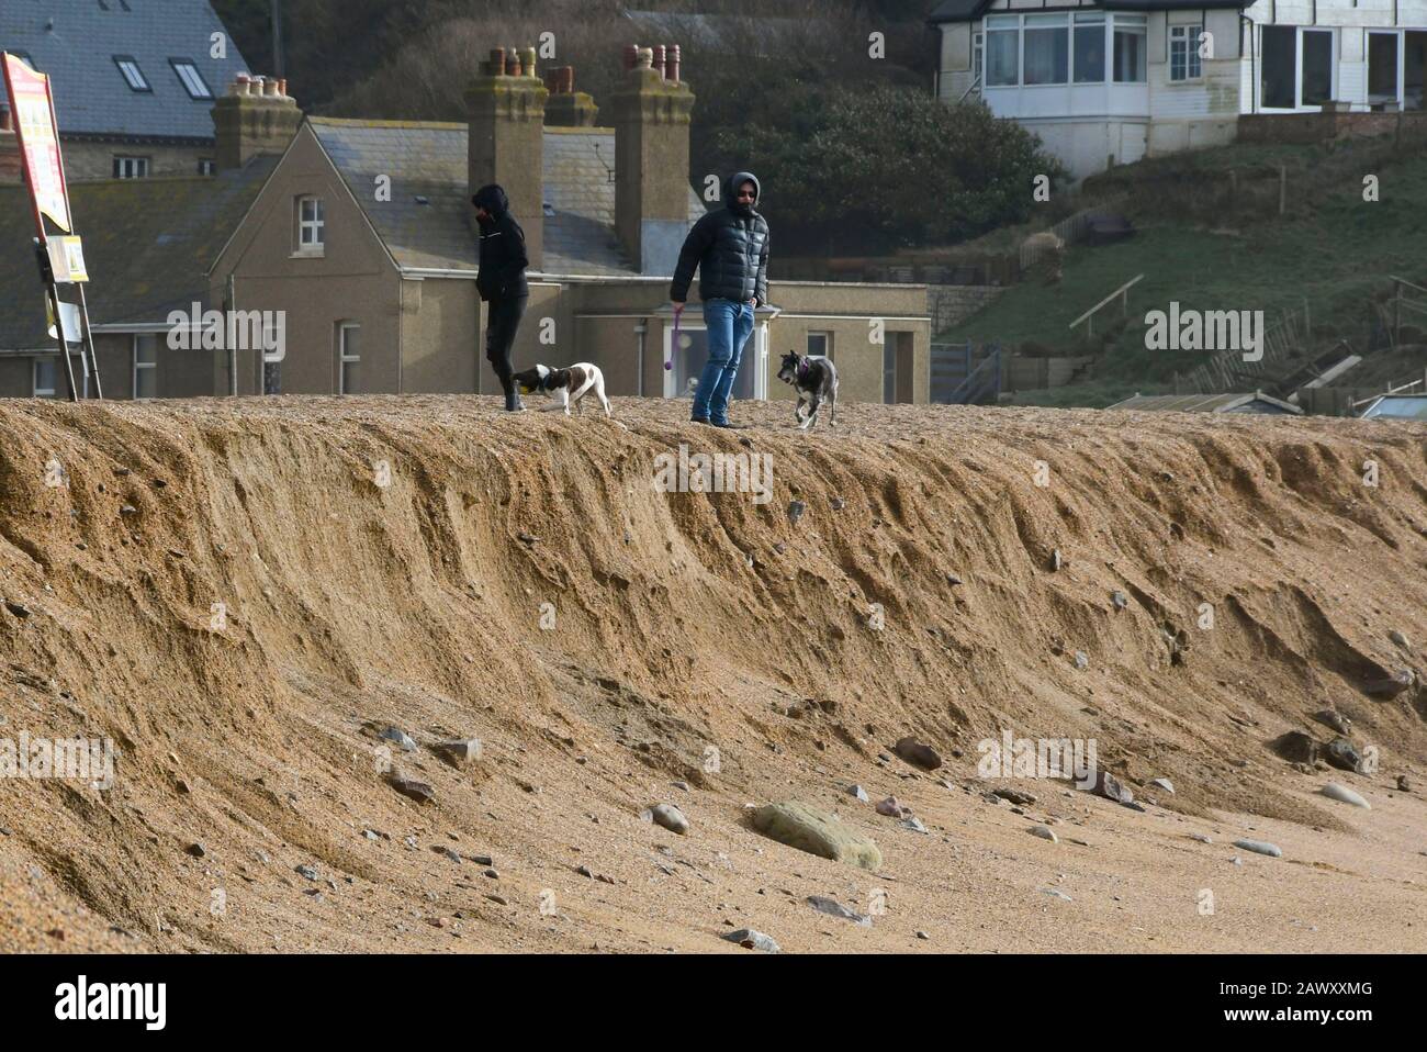
M 1423 108 L 1427 0 L 942 0 L 938 94 L 1079 178 L 1233 141 L 1240 114 Z

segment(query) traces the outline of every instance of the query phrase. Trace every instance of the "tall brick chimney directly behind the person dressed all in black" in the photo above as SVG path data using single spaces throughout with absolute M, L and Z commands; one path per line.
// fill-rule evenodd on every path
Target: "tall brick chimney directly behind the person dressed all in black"
M 467 197 L 488 183 L 505 187 L 525 231 L 531 270 L 545 260 L 545 100 L 534 47 L 495 47 L 465 91 L 469 126 Z M 468 213 L 474 228 L 475 211 Z

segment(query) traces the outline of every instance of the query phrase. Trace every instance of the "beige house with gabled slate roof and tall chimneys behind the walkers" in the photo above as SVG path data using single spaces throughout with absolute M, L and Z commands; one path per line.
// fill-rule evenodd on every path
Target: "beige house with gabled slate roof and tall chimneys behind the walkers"
M 469 198 L 499 183 L 531 258 L 517 368 L 592 361 L 611 394 L 684 395 L 705 333 L 691 304 L 675 343 L 668 285 L 709 204 L 691 187 L 695 100 L 674 54 L 626 49 L 609 126 L 569 67 L 535 74 L 531 49 L 481 63 L 464 124 L 305 118 L 215 264 L 240 310 L 287 318 L 287 357 L 241 390 L 498 393 Z M 776 178 L 763 207 L 776 251 Z M 773 281 L 769 295 L 735 397 L 789 397 L 772 377 L 796 348 L 835 357 L 843 398 L 928 401 L 925 285 Z

